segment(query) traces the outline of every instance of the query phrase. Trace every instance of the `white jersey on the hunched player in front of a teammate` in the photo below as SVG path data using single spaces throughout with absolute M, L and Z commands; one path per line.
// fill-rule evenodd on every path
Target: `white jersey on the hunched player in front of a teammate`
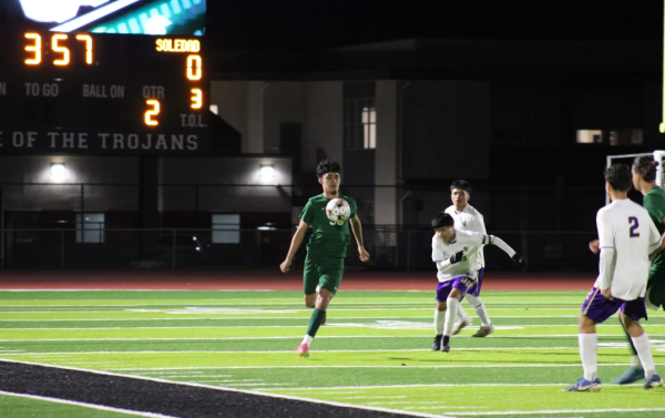
M 437 278 L 439 282 L 448 282 L 456 277 L 466 276 L 475 278 L 478 275 L 478 249 L 483 244 L 490 243 L 485 234 L 469 231 L 456 231 L 454 241 L 444 243 L 443 239 L 432 237 L 432 261 L 437 263 Z M 464 252 L 464 259 L 456 264 L 444 263 L 460 251 Z

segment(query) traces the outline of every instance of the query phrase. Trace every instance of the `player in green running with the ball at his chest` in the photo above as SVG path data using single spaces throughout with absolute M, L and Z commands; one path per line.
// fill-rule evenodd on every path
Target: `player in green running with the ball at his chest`
M 328 305 L 341 282 L 344 258 L 346 257 L 347 246 L 351 241 L 349 224 L 358 244 L 360 259 L 362 262 L 369 259 L 369 254 L 362 244 L 362 227 L 360 220 L 358 220 L 356 201 L 339 194 L 340 172 L 339 163 L 332 159 L 324 160 L 318 164 L 316 175 L 324 193 L 311 197 L 303 208 L 298 230 L 294 234 L 286 259 L 279 266 L 284 273 L 289 271 L 294 256 L 305 238 L 307 228 L 311 225 L 311 236 L 309 237 L 309 244 L 307 244 L 307 257 L 305 258 L 303 287 L 305 306 L 313 307 L 314 312 L 309 318 L 305 339 L 296 348 L 298 357 L 309 356 L 309 345 L 318 328 L 325 322 Z M 349 222 L 338 225 L 328 220 L 326 206 L 332 198 L 344 198 L 348 202 L 351 207 Z

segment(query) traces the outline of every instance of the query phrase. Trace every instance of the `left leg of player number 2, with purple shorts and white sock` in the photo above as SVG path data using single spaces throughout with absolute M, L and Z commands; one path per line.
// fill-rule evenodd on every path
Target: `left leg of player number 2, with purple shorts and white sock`
M 586 295 L 586 299 L 582 305 L 582 313 L 577 320 L 579 334 L 577 344 L 580 346 L 580 358 L 584 376 L 573 386 L 566 387 L 563 390 L 567 391 L 598 391 L 601 390 L 601 379 L 597 376 L 597 348 L 598 336 L 595 325 L 605 322 L 614 315 L 620 306 L 620 300 L 608 300 L 597 288 L 592 288 Z

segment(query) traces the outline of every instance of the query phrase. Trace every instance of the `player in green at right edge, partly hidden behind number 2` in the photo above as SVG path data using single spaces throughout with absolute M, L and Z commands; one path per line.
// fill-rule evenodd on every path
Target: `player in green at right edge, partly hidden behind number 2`
M 663 235 L 665 232 L 665 191 L 656 185 L 657 166 L 658 162 L 651 155 L 636 157 L 633 162 L 633 185 L 644 195 L 643 206 L 651 215 L 661 235 Z M 646 284 L 644 302 L 652 310 L 657 310 L 665 305 L 665 253 L 662 249 L 657 251 L 657 254 L 652 258 Z M 597 253 L 597 241 L 591 243 L 591 251 Z M 627 333 L 626 336 L 628 336 Z M 628 343 L 633 351 L 633 366 L 614 379 L 614 383 L 618 385 L 632 384 L 644 378 L 644 370 L 630 336 Z

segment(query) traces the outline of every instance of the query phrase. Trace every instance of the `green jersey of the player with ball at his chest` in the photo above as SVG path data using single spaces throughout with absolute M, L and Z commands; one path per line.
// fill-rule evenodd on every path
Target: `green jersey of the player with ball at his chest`
M 358 211 L 356 201 L 345 195 L 340 195 L 339 197 L 347 201 L 351 207 L 349 220 L 356 216 Z M 330 222 L 326 215 L 328 202 L 330 202 L 330 198 L 324 194 L 319 194 L 311 197 L 303 208 L 300 220 L 311 225 L 311 236 L 309 237 L 309 244 L 307 244 L 307 253 L 310 255 L 344 258 L 346 257 L 347 246 L 351 241 L 349 222 L 347 221 L 341 225 Z

